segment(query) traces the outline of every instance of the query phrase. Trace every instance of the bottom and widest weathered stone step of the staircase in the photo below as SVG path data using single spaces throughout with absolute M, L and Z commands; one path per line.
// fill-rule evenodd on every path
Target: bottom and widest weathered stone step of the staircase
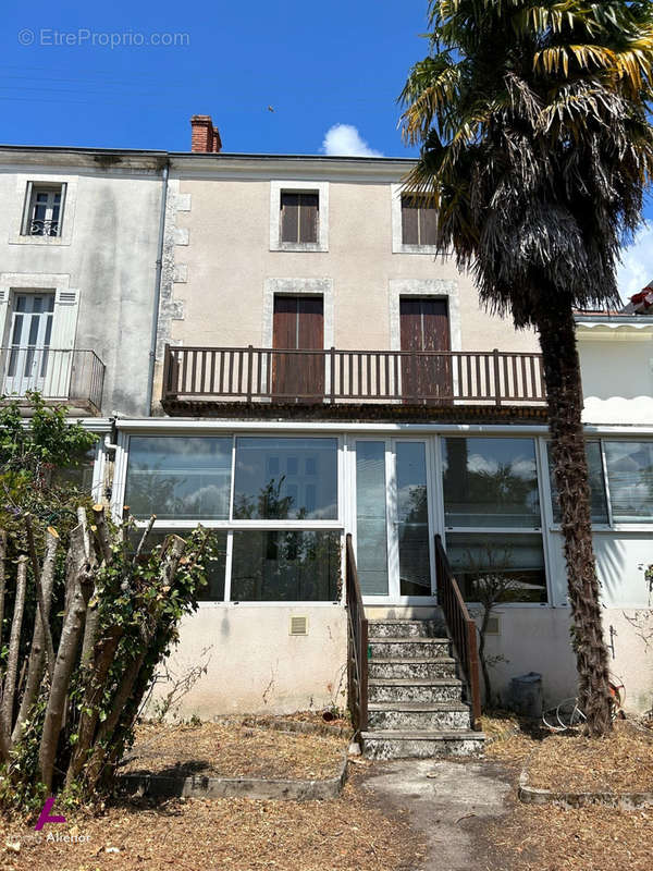
M 446 756 L 477 756 L 485 736 L 471 729 L 387 729 L 361 734 L 368 759 L 431 759 Z

